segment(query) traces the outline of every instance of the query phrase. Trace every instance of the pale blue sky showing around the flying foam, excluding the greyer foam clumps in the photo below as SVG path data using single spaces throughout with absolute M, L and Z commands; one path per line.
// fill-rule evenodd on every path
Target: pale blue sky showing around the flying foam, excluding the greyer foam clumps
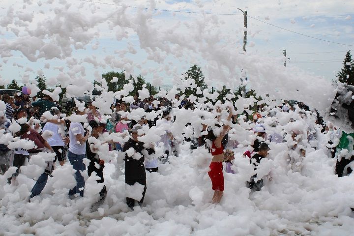
M 28 29 L 36 28 L 36 25 L 40 22 L 46 21 L 46 17 L 53 15 L 54 11 L 51 8 L 60 8 L 64 4 L 58 2 L 53 2 L 51 4 L 48 1 L 32 1 L 33 4 L 24 3 L 22 0 L 15 1 L 5 1 L 0 9 L 0 22 L 7 19 L 6 12 L 9 7 L 13 5 L 14 17 L 12 19 L 12 24 L 5 26 L 3 23 L 0 24 L 0 32 L 2 34 L 1 38 L 5 40 L 6 44 L 10 44 L 13 40 L 27 35 Z M 142 6 L 149 7 L 150 1 L 144 0 L 130 0 L 130 1 L 119 1 L 119 0 L 102 0 L 102 3 L 112 3 L 112 4 L 127 4 L 131 6 Z M 71 6 L 69 10 L 78 11 L 83 15 L 87 15 L 88 18 L 90 14 L 97 15 L 107 15 L 117 9 L 119 6 L 98 4 L 98 3 L 88 3 L 80 0 L 67 1 Z M 26 8 L 24 8 L 26 7 Z M 315 0 L 312 2 L 304 0 L 283 0 L 274 1 L 274 3 L 268 3 L 268 1 L 156 1 L 155 7 L 158 9 L 171 9 L 171 10 L 181 10 L 181 11 L 193 11 L 193 12 L 212 12 L 212 13 L 235 13 L 242 14 L 236 8 L 239 7 L 243 10 L 247 9 L 248 15 L 255 17 L 259 20 L 265 21 L 267 23 L 274 24 L 276 26 L 294 30 L 299 33 L 307 34 L 313 37 L 322 38 L 328 41 L 340 42 L 343 44 L 354 45 L 354 3 L 351 1 L 336 1 L 326 2 L 322 0 Z M 37 11 L 41 10 L 41 14 L 37 14 Z M 24 19 L 24 14 L 33 14 L 32 22 L 23 21 L 21 24 L 27 24 L 26 27 L 19 27 L 21 24 L 18 23 L 19 19 Z M 134 18 L 138 14 L 138 10 L 135 8 L 128 8 L 126 10 L 128 17 Z M 201 24 L 203 27 L 203 21 L 205 20 L 203 15 L 200 14 L 187 14 L 187 13 L 170 13 L 170 12 L 153 12 L 157 15 L 153 16 L 151 19 L 152 28 L 156 29 L 157 33 L 168 28 L 173 28 L 177 25 L 176 31 L 180 35 L 186 35 L 185 39 L 188 40 L 189 34 L 195 34 L 198 27 L 193 27 L 193 24 Z M 16 18 L 18 16 L 19 19 Z M 215 27 L 212 23 L 214 21 L 219 21 L 221 23 L 216 24 Z M 130 20 L 130 19 L 129 19 Z M 136 19 L 135 19 L 136 20 Z M 230 50 L 238 53 L 242 53 L 242 40 L 243 40 L 243 16 L 222 16 L 214 15 L 207 16 L 209 23 L 206 23 L 205 27 L 213 33 L 213 30 L 220 30 L 223 34 L 219 43 L 228 43 Z M 17 21 L 17 23 L 16 23 Z M 180 22 L 180 24 L 178 24 Z M 202 23 L 201 23 L 202 22 Z M 209 25 L 208 25 L 209 24 Z M 186 26 L 191 25 L 191 26 Z M 18 35 L 15 35 L 10 30 L 18 30 Z M 27 28 L 27 29 L 26 29 Z M 134 28 L 134 26 L 133 26 Z M 189 66 L 193 63 L 198 63 L 204 68 L 210 63 L 210 61 L 203 58 L 203 54 L 198 54 L 198 50 L 185 53 L 185 55 L 177 55 L 180 51 L 178 49 L 183 49 L 183 42 L 177 45 L 176 51 L 170 52 L 169 55 L 164 56 L 163 62 L 156 62 L 156 58 L 148 59 L 148 56 L 153 55 L 152 52 L 147 53 L 146 49 L 141 48 L 141 41 L 136 35 L 136 32 L 131 30 L 132 28 L 127 28 L 128 37 L 117 39 L 116 32 L 117 27 L 109 29 L 108 25 L 104 23 L 99 24 L 92 29 L 92 32 L 97 30 L 99 32 L 99 37 L 93 39 L 89 44 L 86 45 L 85 49 L 75 50 L 71 57 L 64 59 L 49 59 L 45 60 L 43 58 L 37 59 L 35 62 L 29 61 L 23 53 L 16 50 L 9 50 L 12 54 L 11 57 L 2 57 L 2 63 L 0 67 L 0 77 L 2 80 L 11 79 L 21 79 L 24 74 L 28 74 L 31 79 L 33 79 L 38 70 L 42 70 L 47 78 L 56 77 L 60 73 L 60 67 L 63 67 L 63 72 L 68 72 L 71 70 L 72 66 L 67 67 L 66 59 L 72 60 L 76 59 L 78 62 L 75 66 L 84 67 L 85 73 L 77 72 L 77 76 L 84 76 L 88 80 L 94 79 L 94 72 L 104 73 L 111 70 L 121 71 L 125 68 L 110 66 L 106 63 L 105 58 L 109 55 L 115 55 L 117 61 L 128 60 L 133 63 L 133 71 L 135 74 L 143 73 L 148 81 L 152 81 L 153 78 L 160 77 L 159 81 L 162 84 L 171 84 L 173 78 L 186 71 Z M 141 28 L 139 28 L 141 29 Z M 163 29 L 163 30 L 159 30 Z M 175 29 L 171 29 L 175 30 Z M 296 66 L 307 71 L 310 74 L 323 76 L 327 80 L 332 80 L 335 78 L 336 72 L 342 67 L 342 60 L 346 54 L 347 50 L 354 50 L 354 47 L 338 45 L 333 43 L 327 43 L 320 40 L 304 37 L 292 32 L 288 32 L 283 29 L 278 29 L 273 26 L 269 26 L 265 23 L 259 22 L 255 19 L 248 18 L 248 38 L 247 42 L 249 47 L 247 47 L 247 54 L 259 55 L 262 57 L 269 57 L 272 59 L 279 59 L 281 62 L 282 51 L 287 50 L 288 57 L 290 61 L 288 66 Z M 168 32 L 168 31 L 167 31 Z M 225 33 L 225 35 L 224 35 Z M 207 34 L 203 34 L 207 36 Z M 52 35 L 54 37 L 54 35 Z M 37 35 L 38 38 L 44 38 L 44 41 L 53 40 L 53 38 L 47 38 L 46 34 Z M 140 35 L 141 37 L 141 35 Z M 168 37 L 167 37 L 168 38 Z M 148 40 L 148 39 L 147 39 Z M 170 41 L 161 41 L 162 44 L 166 43 L 166 48 L 168 45 L 173 45 L 173 38 Z M 197 45 L 197 37 L 191 40 L 195 42 L 190 45 Z M 96 50 L 91 47 L 96 43 L 99 46 Z M 3 43 L 3 42 L 2 42 Z M 153 42 L 148 42 L 153 44 Z M 1 43 L 0 43 L 1 44 Z M 21 43 L 20 43 L 21 44 Z M 115 53 L 115 50 L 124 51 L 127 46 L 130 45 L 135 54 L 131 53 L 120 53 L 122 55 L 119 57 L 119 53 Z M 187 45 L 187 44 L 186 44 Z M 188 45 L 187 45 L 188 46 Z M 162 46 L 161 46 L 162 47 Z M 73 48 L 71 46 L 71 48 Z M 193 51 L 193 50 L 192 50 Z M 324 53 L 332 52 L 332 53 Z M 38 52 L 37 52 L 38 53 Z M 306 54 L 312 53 L 312 54 Z M 321 54 L 315 54 L 321 53 Z M 161 56 L 165 53 L 160 53 Z M 94 68 L 90 63 L 83 62 L 86 57 L 95 56 L 96 61 L 101 64 L 106 64 L 105 68 L 99 66 Z M 322 60 L 324 62 L 317 62 Z M 294 61 L 294 62 L 293 62 Z M 300 62 L 301 61 L 301 62 Z M 305 62 L 302 62 L 305 61 Z M 130 63 L 130 62 L 129 62 Z M 129 64 L 128 62 L 125 65 Z M 50 68 L 44 68 L 45 64 L 49 64 Z M 119 63 L 118 63 L 119 64 Z M 123 63 L 124 64 L 124 63 Z M 57 69 L 55 69 L 57 67 Z M 59 69 L 58 69 L 59 67 Z M 139 68 L 140 67 L 140 68 Z M 27 71 L 26 71 L 27 70 Z M 29 71 L 32 70 L 32 71 Z M 205 72 L 208 76 L 207 71 Z

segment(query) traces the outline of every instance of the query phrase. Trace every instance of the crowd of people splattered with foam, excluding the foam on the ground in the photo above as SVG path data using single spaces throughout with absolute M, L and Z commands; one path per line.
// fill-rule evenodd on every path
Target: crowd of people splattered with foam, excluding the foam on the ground
M 31 189 L 30 201 L 41 194 L 56 165 L 63 166 L 68 160 L 75 170 L 76 179 L 76 186 L 69 190 L 68 197 L 76 199 L 84 196 L 85 179 L 82 173 L 87 170 L 89 176 L 95 173 L 97 182 L 103 183 L 97 196 L 97 204 L 101 204 L 107 189 L 103 175 L 105 161 L 100 148 L 107 147 L 109 151 L 121 152 L 125 156 L 126 185 L 141 186 L 141 198 L 126 198 L 128 207 L 133 208 L 135 201 L 140 205 L 144 201 L 147 173 L 158 172 L 159 165 L 169 162 L 171 155 L 179 154 L 179 144 L 189 143 L 191 151 L 197 148 L 207 148 L 209 151 L 207 173 L 214 190 L 212 202 L 219 203 L 224 191 L 223 172 L 237 172 L 234 163 L 236 151 L 249 158 L 253 167 L 247 186 L 253 192 L 260 191 L 265 178 L 272 180 L 271 170 L 266 175 L 258 171 L 262 160 L 268 157 L 272 143 L 287 144 L 288 167 L 301 173 L 306 150 L 320 148 L 320 133 L 323 134 L 321 137 L 327 138 L 325 148 L 328 157 L 337 158 L 333 168 L 335 173 L 341 177 L 350 174 L 354 168 L 354 134 L 346 134 L 332 124 L 324 123 L 315 110 L 302 103 L 284 101 L 277 107 L 261 105 L 249 116 L 247 113 L 237 114 L 232 103 L 208 102 L 209 105 L 203 107 L 181 97 L 181 94 L 176 94 L 173 100 L 164 97 L 156 100 L 154 96 L 140 100 L 138 97 L 134 95 L 134 101 L 130 104 L 117 99 L 112 104 L 111 114 L 101 114 L 94 106 L 94 99 L 63 112 L 50 96 L 35 101 L 33 97 L 20 93 L 15 97 L 2 95 L 4 110 L 0 111 L 0 135 L 13 137 L 11 142 L 6 143 L 5 139 L 0 142 L 2 175 L 10 166 L 16 167 L 16 172 L 8 178 L 9 184 L 16 185 L 20 167 L 27 165 L 33 155 L 43 155 L 46 160 L 49 158 L 43 174 Z M 142 115 L 132 118 L 132 111 L 137 109 L 142 111 Z M 193 126 L 192 135 L 184 135 L 183 139 L 175 137 L 172 128 L 178 110 L 203 112 L 197 126 Z M 155 115 L 148 117 L 148 114 Z M 76 118 L 70 118 L 72 116 Z M 185 127 L 191 126 L 192 122 L 186 122 Z M 248 131 L 243 140 L 237 138 L 235 125 Z M 146 142 L 141 139 L 153 127 L 162 127 L 164 131 L 158 133 L 159 140 Z M 116 138 L 109 136 L 112 133 L 116 134 Z M 85 158 L 90 161 L 87 167 Z

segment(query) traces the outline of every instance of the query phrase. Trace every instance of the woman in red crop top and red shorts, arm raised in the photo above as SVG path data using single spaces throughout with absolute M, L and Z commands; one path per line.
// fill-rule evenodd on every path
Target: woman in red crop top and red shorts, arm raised
M 230 108 L 228 108 L 228 110 L 229 116 L 227 118 L 227 122 L 224 123 L 224 125 L 221 127 L 222 129 L 220 134 L 216 137 L 211 127 L 209 127 L 207 137 L 205 138 L 212 141 L 211 148 L 209 149 L 213 158 L 209 166 L 210 171 L 208 172 L 208 175 L 211 179 L 212 189 L 214 190 L 212 203 L 219 203 L 224 194 L 224 175 L 222 172 L 222 162 L 224 161 L 224 147 L 221 141 L 230 128 L 228 122 L 231 120 L 231 117 L 233 115 Z

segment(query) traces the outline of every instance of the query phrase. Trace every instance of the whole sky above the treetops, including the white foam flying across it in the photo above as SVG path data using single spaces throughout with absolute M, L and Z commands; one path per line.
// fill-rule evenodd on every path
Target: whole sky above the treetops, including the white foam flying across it
M 229 83 L 249 64 L 245 69 L 249 76 L 263 61 L 283 65 L 283 50 L 289 58 L 287 67 L 334 80 L 346 52 L 354 50 L 348 46 L 354 45 L 354 1 L 2 2 L 2 83 L 24 76 L 33 80 L 39 70 L 53 85 L 60 81 L 60 73 L 72 80 L 93 81 L 102 73 L 125 70 L 160 86 L 176 82 L 198 64 L 213 85 Z M 248 11 L 246 53 L 243 13 L 237 8 Z

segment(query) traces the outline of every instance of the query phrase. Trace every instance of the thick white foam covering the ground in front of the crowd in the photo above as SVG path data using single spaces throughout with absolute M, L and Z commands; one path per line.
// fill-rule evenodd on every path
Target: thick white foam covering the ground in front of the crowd
M 273 179 L 251 193 L 245 181 L 252 166 L 236 153 L 236 174 L 225 175 L 224 197 L 212 205 L 207 175 L 210 156 L 204 148 L 192 153 L 182 146 L 179 157 L 148 173 L 143 207 L 130 210 L 125 202 L 123 163 L 106 164 L 105 203 L 91 212 L 100 186 L 87 179 L 85 197 L 69 200 L 73 183 L 69 164 L 58 167 L 40 196 L 26 201 L 34 181 L 18 177 L 18 186 L 1 176 L 2 235 L 353 235 L 353 176 L 334 175 L 335 161 L 324 150 L 307 152 L 301 173 L 287 165 L 285 144 L 272 144 L 269 160 Z M 237 151 L 237 150 L 236 150 Z

